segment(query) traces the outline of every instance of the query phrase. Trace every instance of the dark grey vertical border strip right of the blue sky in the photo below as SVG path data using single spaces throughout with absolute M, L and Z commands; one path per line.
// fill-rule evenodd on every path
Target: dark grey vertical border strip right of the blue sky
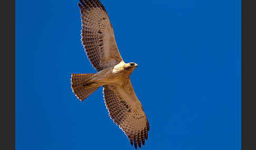
M 241 148 L 256 149 L 255 1 L 241 2 Z

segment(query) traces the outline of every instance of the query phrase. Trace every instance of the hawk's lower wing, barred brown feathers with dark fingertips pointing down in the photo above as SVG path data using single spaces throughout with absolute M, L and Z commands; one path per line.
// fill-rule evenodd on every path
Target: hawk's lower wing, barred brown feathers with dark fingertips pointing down
M 111 119 L 130 139 L 131 145 L 145 145 L 149 122 L 137 99 L 130 79 L 123 84 L 104 85 L 104 100 Z

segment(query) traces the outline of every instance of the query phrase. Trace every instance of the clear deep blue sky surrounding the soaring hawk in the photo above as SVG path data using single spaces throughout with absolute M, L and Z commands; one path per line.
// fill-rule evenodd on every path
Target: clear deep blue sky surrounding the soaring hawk
M 102 88 L 83 103 L 71 73 L 95 73 L 78 1 L 16 1 L 16 149 L 134 149 Z M 241 2 L 103 1 L 150 123 L 143 149 L 240 149 Z

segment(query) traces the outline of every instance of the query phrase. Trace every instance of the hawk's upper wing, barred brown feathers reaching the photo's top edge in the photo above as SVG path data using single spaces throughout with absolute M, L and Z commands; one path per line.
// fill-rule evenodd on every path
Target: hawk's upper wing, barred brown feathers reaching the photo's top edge
M 114 31 L 104 6 L 98 0 L 80 0 L 81 41 L 92 66 L 97 70 L 114 66 L 120 61 Z

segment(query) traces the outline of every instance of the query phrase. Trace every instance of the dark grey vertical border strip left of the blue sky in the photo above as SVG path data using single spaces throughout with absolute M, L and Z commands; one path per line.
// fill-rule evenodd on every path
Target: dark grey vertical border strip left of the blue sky
M 15 0 L 1 1 L 0 15 L 0 149 L 15 149 Z

